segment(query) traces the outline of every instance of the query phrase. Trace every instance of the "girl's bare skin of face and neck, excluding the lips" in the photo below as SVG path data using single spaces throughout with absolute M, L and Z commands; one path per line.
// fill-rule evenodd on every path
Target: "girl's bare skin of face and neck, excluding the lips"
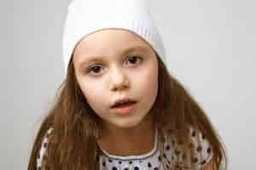
M 125 53 L 137 46 L 145 50 Z M 158 92 L 158 62 L 148 42 L 122 29 L 96 31 L 78 43 L 73 56 L 79 86 L 106 127 L 98 141 L 100 147 L 118 156 L 152 150 L 155 129 L 148 111 Z M 88 62 L 94 56 L 100 59 Z M 137 100 L 137 106 L 129 114 L 119 115 L 110 106 L 124 97 Z

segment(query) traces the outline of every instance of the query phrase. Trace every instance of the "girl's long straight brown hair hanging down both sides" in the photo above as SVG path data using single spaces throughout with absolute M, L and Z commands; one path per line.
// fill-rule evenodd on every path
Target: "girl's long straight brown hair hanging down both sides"
M 192 165 L 193 154 L 188 129 L 201 131 L 212 145 L 212 161 L 216 169 L 227 169 L 227 156 L 212 122 L 188 90 L 172 77 L 156 54 L 159 62 L 159 91 L 150 110 L 160 136 L 170 134 L 182 141 L 184 162 Z M 149 114 L 149 113 L 148 113 Z M 35 170 L 38 152 L 44 135 L 52 127 L 46 156 L 41 169 L 99 169 L 98 156 L 101 153 L 96 139 L 101 137 L 101 118 L 90 108 L 75 77 L 73 58 L 67 68 L 67 77 L 55 95 L 55 102 L 47 112 L 32 147 L 28 170 Z M 197 134 L 198 135 L 198 134 Z M 197 136 L 198 138 L 198 136 Z M 163 148 L 163 146 L 161 146 Z

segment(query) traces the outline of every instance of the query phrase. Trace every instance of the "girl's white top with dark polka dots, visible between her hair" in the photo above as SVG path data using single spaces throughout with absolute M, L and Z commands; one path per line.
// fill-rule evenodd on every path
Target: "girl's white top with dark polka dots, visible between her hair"
M 49 128 L 46 133 L 41 149 L 38 153 L 37 167 L 41 168 L 42 158 L 45 156 L 45 150 L 47 149 L 48 136 L 51 133 L 52 128 Z M 199 133 L 199 140 L 195 137 L 195 133 Z M 212 148 L 208 143 L 203 133 L 190 129 L 194 145 L 194 159 L 195 169 L 201 169 L 212 158 Z M 102 150 L 102 155 L 99 156 L 100 170 L 160 170 L 160 169 L 173 169 L 174 167 L 180 167 L 181 169 L 190 169 L 183 167 L 183 153 L 180 151 L 179 144 L 172 139 L 168 141 L 165 136 L 164 140 L 164 153 L 160 156 L 160 142 L 158 138 L 158 131 L 155 131 L 154 136 L 154 148 L 148 153 L 137 156 L 114 156 Z

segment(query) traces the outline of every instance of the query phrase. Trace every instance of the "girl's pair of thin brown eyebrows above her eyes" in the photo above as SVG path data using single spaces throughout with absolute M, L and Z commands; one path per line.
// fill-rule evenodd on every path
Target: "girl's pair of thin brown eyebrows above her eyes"
M 145 46 L 142 45 L 137 45 L 137 46 L 131 46 L 129 48 L 126 48 L 124 52 L 121 53 L 121 55 L 125 55 L 125 54 L 129 54 L 131 53 L 131 51 L 142 51 L 144 53 L 148 53 L 148 48 L 146 48 Z M 86 55 L 87 57 L 87 55 Z M 94 61 L 102 61 L 103 57 L 101 57 L 100 55 L 96 55 L 96 56 L 90 56 L 89 59 L 85 59 L 82 62 L 79 63 L 79 67 L 82 67 L 83 65 L 90 63 L 90 62 L 94 62 Z

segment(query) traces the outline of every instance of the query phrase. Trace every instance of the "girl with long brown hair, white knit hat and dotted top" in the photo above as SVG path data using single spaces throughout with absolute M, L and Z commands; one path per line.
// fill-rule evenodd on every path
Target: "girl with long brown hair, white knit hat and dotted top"
M 166 69 L 146 3 L 69 5 L 67 78 L 39 128 L 29 170 L 227 168 L 212 123 Z

